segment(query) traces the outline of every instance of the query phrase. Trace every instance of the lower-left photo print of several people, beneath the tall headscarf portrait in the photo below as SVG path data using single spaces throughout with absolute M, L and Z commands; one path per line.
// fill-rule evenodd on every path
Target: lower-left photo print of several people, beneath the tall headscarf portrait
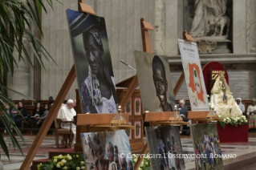
M 81 133 L 87 169 L 133 170 L 129 139 L 124 130 Z

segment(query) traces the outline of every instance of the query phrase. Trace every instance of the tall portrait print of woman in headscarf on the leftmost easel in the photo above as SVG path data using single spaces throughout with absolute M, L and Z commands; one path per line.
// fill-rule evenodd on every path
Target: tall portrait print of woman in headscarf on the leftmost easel
M 118 105 L 104 18 L 67 10 L 83 113 L 116 113 Z

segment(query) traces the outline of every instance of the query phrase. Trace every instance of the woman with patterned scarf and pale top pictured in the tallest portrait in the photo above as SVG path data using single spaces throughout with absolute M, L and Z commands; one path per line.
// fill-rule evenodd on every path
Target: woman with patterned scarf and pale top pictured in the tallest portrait
M 89 63 L 88 76 L 80 87 L 83 113 L 116 113 L 115 81 L 104 65 L 104 46 L 97 28 L 83 32 L 83 47 Z

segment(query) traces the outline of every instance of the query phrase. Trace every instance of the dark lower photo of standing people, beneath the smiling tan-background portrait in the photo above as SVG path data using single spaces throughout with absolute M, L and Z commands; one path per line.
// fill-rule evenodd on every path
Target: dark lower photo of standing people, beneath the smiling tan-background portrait
M 145 127 L 148 139 L 148 151 L 153 170 L 185 169 L 181 138 L 178 127 Z M 176 155 L 176 156 L 175 156 Z

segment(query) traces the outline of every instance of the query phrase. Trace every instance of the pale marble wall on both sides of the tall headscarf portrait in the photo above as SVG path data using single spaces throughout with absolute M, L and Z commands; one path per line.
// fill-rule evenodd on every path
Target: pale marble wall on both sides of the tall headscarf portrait
M 42 71 L 42 99 L 48 99 L 50 95 L 55 98 L 58 95 L 74 63 L 65 10 L 67 8 L 77 10 L 77 0 L 62 0 L 63 5 L 53 2 L 55 11 L 48 7 L 48 13 L 42 16 L 45 34 L 43 45 L 59 67 L 53 62 L 44 61 L 46 70 Z M 140 18 L 146 18 L 146 21 L 154 26 L 155 1 L 85 0 L 84 2 L 92 6 L 97 15 L 105 18 L 116 83 L 135 75 L 135 71 L 120 63 L 120 59 L 136 67 L 133 50 L 142 51 Z M 154 47 L 154 32 L 150 31 L 149 35 Z M 75 97 L 75 88 L 78 88 L 76 79 L 66 99 Z

